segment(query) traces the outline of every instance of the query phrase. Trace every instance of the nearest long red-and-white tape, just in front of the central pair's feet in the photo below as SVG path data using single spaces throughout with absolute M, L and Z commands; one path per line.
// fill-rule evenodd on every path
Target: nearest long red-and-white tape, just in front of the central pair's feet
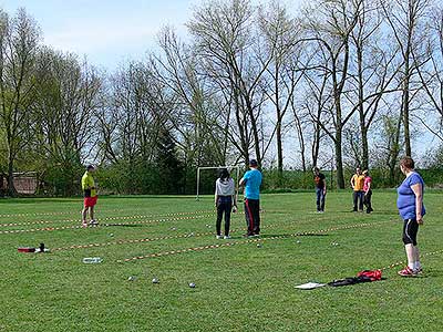
M 330 227 L 330 228 L 313 230 L 313 231 L 301 231 L 301 232 L 296 232 L 292 235 L 281 235 L 281 236 L 274 236 L 274 237 L 268 237 L 268 238 L 255 238 L 255 239 L 240 240 L 240 241 L 235 241 L 235 242 L 225 242 L 225 243 L 208 245 L 208 246 L 202 246 L 202 247 L 192 247 L 192 248 L 185 248 L 185 249 L 154 252 L 154 253 L 148 253 L 148 255 L 144 255 L 144 256 L 135 256 L 132 258 L 125 258 L 122 260 L 117 260 L 117 262 L 123 263 L 123 262 L 137 261 L 137 260 L 142 260 L 142 259 L 147 259 L 147 258 L 156 258 L 156 257 L 171 256 L 171 255 L 177 255 L 177 253 L 233 247 L 233 246 L 237 246 L 237 245 L 264 242 L 264 241 L 268 241 L 268 240 L 281 240 L 281 239 L 288 239 L 288 238 L 292 238 L 292 237 L 316 236 L 316 235 L 321 235 L 321 234 L 326 234 L 326 232 L 330 232 L 330 231 L 334 231 L 334 230 L 362 228 L 362 227 L 367 227 L 367 226 L 380 226 L 380 225 L 383 225 L 387 222 L 388 221 L 384 221 L 384 222 L 380 222 L 380 221 L 379 222 L 360 222 L 360 224 L 356 224 L 356 225 Z

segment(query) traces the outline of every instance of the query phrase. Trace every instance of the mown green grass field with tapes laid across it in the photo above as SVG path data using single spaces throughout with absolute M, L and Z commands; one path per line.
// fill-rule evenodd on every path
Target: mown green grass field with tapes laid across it
M 228 241 L 212 197 L 104 197 L 86 229 L 81 199 L 0 200 L 0 331 L 443 331 L 443 194 L 425 195 L 422 277 L 399 264 L 379 282 L 295 289 L 404 261 L 395 198 L 375 191 L 367 215 L 329 193 L 319 215 L 313 194 L 264 195 L 262 237 L 241 237 L 240 210 Z M 52 251 L 17 251 L 40 242 Z

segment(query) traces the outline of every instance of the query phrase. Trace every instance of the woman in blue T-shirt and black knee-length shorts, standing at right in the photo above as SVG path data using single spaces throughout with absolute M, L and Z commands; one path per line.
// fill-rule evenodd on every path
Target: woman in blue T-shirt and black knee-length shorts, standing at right
M 419 225 L 423 225 L 423 216 L 426 214 L 423 205 L 424 181 L 414 170 L 414 160 L 404 157 L 400 160 L 400 170 L 406 176 L 396 189 L 396 207 L 403 221 L 403 243 L 406 251 L 408 266 L 399 271 L 402 277 L 414 277 L 422 271 L 420 252 L 416 245 Z

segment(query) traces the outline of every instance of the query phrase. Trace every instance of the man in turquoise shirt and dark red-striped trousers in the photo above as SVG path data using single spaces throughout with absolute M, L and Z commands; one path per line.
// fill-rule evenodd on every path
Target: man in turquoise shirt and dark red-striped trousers
M 258 170 L 256 159 L 249 160 L 250 170 L 246 172 L 240 180 L 245 186 L 245 217 L 248 232 L 245 236 L 260 235 L 260 185 L 261 172 Z

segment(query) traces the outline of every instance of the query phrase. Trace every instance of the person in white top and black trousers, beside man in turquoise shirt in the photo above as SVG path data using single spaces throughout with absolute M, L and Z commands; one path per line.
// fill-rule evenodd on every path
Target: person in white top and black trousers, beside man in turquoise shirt
M 234 209 L 233 209 L 234 205 Z M 230 239 L 230 211 L 237 211 L 235 197 L 235 184 L 226 168 L 220 169 L 219 177 L 215 181 L 215 206 L 217 208 L 217 239 L 222 239 L 222 219 L 225 214 L 225 240 Z

